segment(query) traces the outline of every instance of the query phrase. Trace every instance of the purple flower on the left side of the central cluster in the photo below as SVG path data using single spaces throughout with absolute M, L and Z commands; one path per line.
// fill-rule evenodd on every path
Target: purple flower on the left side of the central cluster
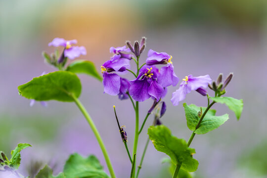
M 121 94 L 125 94 L 125 80 L 122 82 L 123 87 L 121 89 L 121 77 L 118 74 L 111 72 L 123 72 L 128 66 L 129 60 L 121 58 L 121 55 L 114 55 L 101 66 L 104 92 L 110 95 L 117 95 L 121 90 Z

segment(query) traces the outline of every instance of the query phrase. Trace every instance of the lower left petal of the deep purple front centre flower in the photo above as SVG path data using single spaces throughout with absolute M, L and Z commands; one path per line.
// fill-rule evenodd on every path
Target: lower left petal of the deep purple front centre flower
M 148 88 L 150 84 L 147 82 L 146 79 L 143 80 L 135 80 L 133 85 L 129 89 L 130 95 L 134 98 L 135 101 L 144 101 L 150 98 L 148 94 Z

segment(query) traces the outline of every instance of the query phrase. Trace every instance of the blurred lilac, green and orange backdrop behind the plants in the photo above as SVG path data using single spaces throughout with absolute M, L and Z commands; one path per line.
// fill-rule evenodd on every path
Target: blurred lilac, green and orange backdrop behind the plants
M 17 143 L 33 145 L 22 151 L 19 172 L 24 176 L 34 175 L 44 164 L 57 174 L 74 152 L 95 154 L 107 171 L 97 141 L 74 103 L 49 101 L 47 107 L 40 103 L 30 107 L 17 87 L 44 71 L 55 70 L 41 55 L 44 50 L 53 52 L 47 44 L 55 37 L 77 39 L 88 51 L 80 59 L 93 61 L 100 72 L 100 66 L 112 56 L 110 46 L 123 46 L 126 40 L 134 43 L 143 36 L 147 47 L 140 60 L 145 61 L 150 48 L 169 53 L 180 81 L 189 74 L 209 74 L 216 80 L 219 73 L 225 78 L 233 72 L 225 96 L 244 99 L 239 121 L 226 106 L 216 104 L 217 115 L 227 112 L 230 119 L 215 131 L 195 136 L 191 144 L 199 161 L 195 178 L 266 178 L 266 0 L 0 0 L 0 150 L 10 156 Z M 131 165 L 113 105 L 120 124 L 126 125 L 132 152 L 132 104 L 103 94 L 99 81 L 79 77 L 83 84 L 80 99 L 99 129 L 116 175 L 128 178 Z M 183 107 L 170 101 L 176 89 L 178 86 L 169 87 L 164 98 L 167 112 L 162 122 L 174 135 L 188 140 L 191 131 Z M 140 123 L 152 102 L 140 104 Z M 206 106 L 207 99 L 191 92 L 184 102 Z M 139 154 L 152 120 L 149 117 L 139 138 Z M 169 165 L 161 163 L 165 157 L 150 143 L 140 178 L 171 177 Z

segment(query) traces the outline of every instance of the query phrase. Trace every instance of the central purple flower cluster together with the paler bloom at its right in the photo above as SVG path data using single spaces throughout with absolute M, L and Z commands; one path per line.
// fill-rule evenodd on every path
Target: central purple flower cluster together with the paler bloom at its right
M 127 42 L 127 46 L 111 47 L 110 52 L 114 55 L 110 60 L 101 66 L 103 74 L 104 92 L 110 95 L 118 95 L 120 99 L 127 99 L 130 96 L 135 101 L 145 101 L 148 98 L 155 99 L 158 102 L 167 93 L 167 87 L 176 86 L 179 78 L 174 72 L 172 56 L 166 52 L 156 52 L 148 50 L 145 63 L 139 68 L 139 57 L 145 48 L 145 38 L 141 43 Z M 129 54 L 132 52 L 133 54 Z M 134 58 L 134 56 L 136 58 Z M 136 74 L 130 70 L 130 61 L 134 59 L 137 64 Z M 165 65 L 160 69 L 156 65 Z M 119 76 L 128 71 L 135 76 L 134 80 L 128 80 Z M 179 89 L 173 93 L 171 101 L 178 105 L 179 101 L 185 98 L 185 95 L 191 90 L 196 90 L 203 96 L 206 96 L 205 88 L 211 84 L 209 75 L 193 77 L 186 76 L 180 84 Z

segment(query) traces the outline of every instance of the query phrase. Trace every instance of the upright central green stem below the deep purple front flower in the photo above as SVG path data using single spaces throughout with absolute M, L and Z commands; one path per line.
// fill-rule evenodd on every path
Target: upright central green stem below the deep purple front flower
M 133 147 L 133 156 L 135 157 L 137 151 L 137 143 L 138 143 L 138 131 L 139 131 L 139 102 L 135 102 L 135 133 L 134 133 L 134 147 Z M 134 158 L 133 158 L 134 160 Z M 135 176 L 135 162 L 132 165 L 133 176 Z M 133 177 L 134 178 L 134 177 Z

